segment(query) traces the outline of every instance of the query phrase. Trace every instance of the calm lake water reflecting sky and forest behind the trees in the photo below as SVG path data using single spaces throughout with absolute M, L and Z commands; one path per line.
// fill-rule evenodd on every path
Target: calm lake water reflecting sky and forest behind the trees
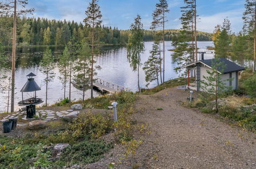
M 145 42 L 145 52 L 141 55 L 142 63 L 144 63 L 147 59 L 149 51 L 151 50 L 153 42 L 146 41 Z M 207 46 L 214 46 L 212 41 L 198 41 L 198 48 L 200 51 L 209 51 L 206 49 Z M 173 49 L 171 46 L 171 41 L 165 42 L 165 80 L 177 78 L 179 74 L 176 74 L 173 69 L 176 67 L 176 64 L 172 63 L 171 55 L 173 52 L 168 51 L 169 49 Z M 36 95 L 39 98 L 45 100 L 45 90 L 46 87 L 43 84 L 43 79 L 45 75 L 40 72 L 39 63 L 42 59 L 42 51 L 43 48 L 22 48 L 17 51 L 17 60 L 16 60 L 16 70 L 15 70 L 15 109 L 18 109 L 17 102 L 22 100 L 22 87 L 25 85 L 27 81 L 26 75 L 30 72 L 36 74 L 35 81 L 38 86 L 41 87 L 41 91 L 37 91 Z M 55 57 L 57 55 L 62 54 L 61 48 L 53 48 L 53 54 Z M 213 54 L 205 54 L 205 59 L 212 58 Z M 97 71 L 97 77 L 102 78 L 106 81 L 116 83 L 118 85 L 130 88 L 132 91 L 137 90 L 137 72 L 133 72 L 129 66 L 127 61 L 127 51 L 125 47 L 119 48 L 107 48 L 104 49 L 102 54 L 96 58 L 96 65 L 102 67 L 101 70 Z M 62 87 L 62 83 L 59 76 L 58 67 L 54 68 L 54 72 L 56 73 L 55 78 L 52 82 L 49 83 L 48 87 L 48 103 L 52 104 L 59 99 L 64 97 L 64 90 Z M 0 75 L 8 75 L 11 76 L 11 71 L 0 68 Z M 4 86 L 7 83 L 7 79 L 3 79 L 0 81 L 0 86 Z M 145 81 L 145 73 L 142 68 L 140 70 L 140 85 L 142 88 L 146 88 L 147 82 Z M 157 85 L 157 82 L 152 82 L 148 88 L 152 88 Z M 67 87 L 66 96 L 68 96 L 69 87 Z M 71 99 L 81 99 L 82 91 L 77 90 L 73 86 L 71 86 Z M 99 96 L 100 94 L 94 92 L 94 96 Z M 24 98 L 32 97 L 32 93 L 24 93 Z M 90 97 L 90 91 L 86 91 L 86 97 Z M 0 94 L 0 112 L 4 112 L 7 110 L 7 92 Z M 10 109 L 9 109 L 10 110 Z

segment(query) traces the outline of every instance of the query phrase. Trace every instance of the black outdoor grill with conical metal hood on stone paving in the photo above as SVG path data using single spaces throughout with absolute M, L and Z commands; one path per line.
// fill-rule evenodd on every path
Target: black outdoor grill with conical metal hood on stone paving
M 43 102 L 41 98 L 36 97 L 36 91 L 41 90 L 41 88 L 37 85 L 33 76 L 36 75 L 33 73 L 29 73 L 27 75 L 27 77 L 29 78 L 21 90 L 22 101 L 18 102 L 18 105 L 26 105 L 27 118 L 33 118 L 33 116 L 35 115 L 35 105 Z M 34 94 L 33 97 L 24 100 L 23 92 L 34 92 Z

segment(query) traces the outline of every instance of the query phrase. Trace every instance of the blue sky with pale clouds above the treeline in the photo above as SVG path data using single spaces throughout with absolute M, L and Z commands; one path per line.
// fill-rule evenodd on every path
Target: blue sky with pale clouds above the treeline
M 32 17 L 46 17 L 57 20 L 83 22 L 85 10 L 90 0 L 29 0 L 29 7 L 35 9 Z M 134 17 L 140 14 L 144 29 L 149 29 L 152 11 L 159 0 L 100 0 L 102 20 L 105 26 L 129 29 Z M 166 29 L 181 28 L 181 9 L 183 0 L 167 0 L 170 12 L 167 14 Z M 242 15 L 245 0 L 197 0 L 199 31 L 213 32 L 228 17 L 232 32 L 238 33 L 243 27 Z

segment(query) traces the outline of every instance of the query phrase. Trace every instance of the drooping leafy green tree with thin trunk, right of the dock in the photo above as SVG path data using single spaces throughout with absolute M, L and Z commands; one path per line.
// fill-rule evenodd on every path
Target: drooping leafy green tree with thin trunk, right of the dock
M 130 26 L 131 34 L 127 44 L 127 59 L 130 63 L 130 67 L 133 71 L 138 72 L 138 88 L 140 88 L 140 65 L 141 65 L 141 53 L 144 51 L 143 42 L 143 24 L 141 22 L 141 16 L 137 14 L 134 18 L 134 23 Z

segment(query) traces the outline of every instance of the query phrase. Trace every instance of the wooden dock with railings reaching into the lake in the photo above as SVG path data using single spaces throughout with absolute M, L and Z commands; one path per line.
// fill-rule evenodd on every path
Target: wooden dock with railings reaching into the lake
M 72 84 L 75 86 L 75 88 L 83 90 L 83 85 L 78 85 L 74 81 L 72 81 Z M 109 92 L 109 93 L 119 93 L 122 91 L 131 92 L 131 89 L 123 87 L 121 85 L 117 85 L 112 82 L 108 82 L 106 80 L 97 78 L 93 82 L 93 88 L 96 88 L 97 91 L 102 91 L 103 93 Z

